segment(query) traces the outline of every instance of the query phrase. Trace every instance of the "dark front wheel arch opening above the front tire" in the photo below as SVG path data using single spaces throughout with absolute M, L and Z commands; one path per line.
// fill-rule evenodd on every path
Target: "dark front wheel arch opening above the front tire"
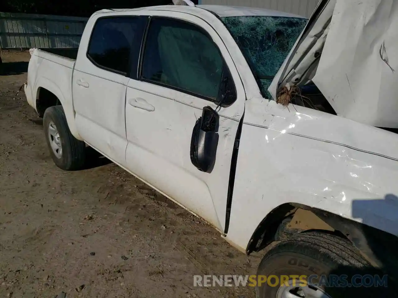
M 252 234 L 246 253 L 259 252 L 275 241 L 277 233 L 283 230 L 281 226 L 289 219 L 293 219 L 295 214 L 300 211 L 313 213 L 318 218 L 318 223 L 321 224 L 313 225 L 313 223 L 308 223 L 307 228 L 298 231 L 293 230 L 293 232 L 287 233 L 285 238 L 306 230 L 324 230 L 324 232 L 345 238 L 373 266 L 386 268 L 388 273 L 396 271 L 398 256 L 396 256 L 394 247 L 398 246 L 397 236 L 328 211 L 297 203 L 283 204 L 271 211 Z M 330 229 L 326 229 L 325 226 L 329 226 Z

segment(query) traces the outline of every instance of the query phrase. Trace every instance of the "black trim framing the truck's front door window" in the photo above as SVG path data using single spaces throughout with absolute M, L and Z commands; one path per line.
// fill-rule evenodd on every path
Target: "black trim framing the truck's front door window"
M 177 22 L 180 22 L 180 23 L 186 23 L 188 25 L 193 25 L 194 27 L 197 27 L 215 45 L 215 47 L 217 48 L 217 51 L 219 52 L 220 57 L 222 59 L 223 66 L 226 68 L 226 70 L 228 70 L 228 73 L 231 74 L 231 72 L 229 70 L 229 67 L 228 67 L 228 64 L 225 62 L 224 56 L 222 55 L 219 46 L 214 42 L 213 38 L 209 35 L 209 33 L 205 29 L 203 29 L 201 26 L 199 26 L 199 25 L 197 25 L 195 23 L 192 23 L 190 21 L 187 21 L 185 19 L 179 19 L 177 17 L 165 17 L 165 16 L 162 16 L 162 15 L 152 15 L 148 19 L 148 23 L 146 25 L 144 37 L 142 39 L 140 60 L 139 60 L 139 66 L 138 66 L 138 79 L 139 79 L 139 81 L 150 83 L 150 84 L 154 84 L 154 85 L 158 85 L 158 86 L 165 87 L 165 88 L 168 88 L 168 89 L 172 89 L 172 90 L 175 90 L 175 91 L 179 91 L 181 93 L 185 93 L 185 94 L 188 94 L 188 95 L 191 95 L 191 96 L 194 96 L 194 97 L 198 97 L 198 98 L 204 99 L 206 101 L 210 101 L 212 103 L 216 103 L 216 104 L 219 103 L 219 99 L 218 98 L 213 99 L 213 98 L 207 97 L 205 95 L 201 95 L 201 94 L 198 94 L 198 93 L 195 93 L 195 92 L 191 92 L 191 91 L 188 91 L 188 90 L 185 90 L 185 89 L 181 89 L 181 88 L 178 88 L 178 87 L 175 87 L 175 86 L 171 86 L 171 85 L 167 85 L 167 84 L 164 84 L 164 83 L 160 83 L 160 82 L 157 82 L 157 81 L 152 81 L 150 79 L 145 79 L 145 78 L 142 77 L 142 64 L 143 64 L 143 61 L 144 61 L 146 40 L 147 40 L 147 37 L 148 37 L 148 31 L 149 31 L 149 27 L 150 27 L 152 19 L 169 19 L 169 20 L 172 20 L 172 21 L 177 21 Z M 230 79 L 232 80 L 232 84 L 234 86 L 235 93 L 237 94 L 236 85 L 235 85 L 234 79 L 232 78 L 232 75 L 230 75 Z M 232 104 L 233 103 L 230 103 L 230 104 L 228 104 L 228 106 L 230 106 Z

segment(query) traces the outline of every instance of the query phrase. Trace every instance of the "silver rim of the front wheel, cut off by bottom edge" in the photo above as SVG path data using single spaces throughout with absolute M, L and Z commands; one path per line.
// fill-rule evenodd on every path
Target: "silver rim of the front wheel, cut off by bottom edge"
M 284 285 L 278 289 L 276 298 L 331 298 L 322 289 L 317 286 L 300 285 L 300 281 L 290 279 L 288 286 Z

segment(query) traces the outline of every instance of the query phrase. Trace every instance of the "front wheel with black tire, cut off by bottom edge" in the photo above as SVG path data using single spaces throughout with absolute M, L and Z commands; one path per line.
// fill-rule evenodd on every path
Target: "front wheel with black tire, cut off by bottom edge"
M 256 285 L 256 294 L 257 298 L 391 296 L 388 296 L 385 286 L 355 286 L 361 283 L 359 276 L 352 279 L 356 274 L 361 277 L 369 274 L 373 280 L 375 275 L 379 275 L 384 281 L 381 271 L 372 267 L 347 240 L 322 232 L 302 232 L 280 242 L 265 254 L 257 275 L 265 276 L 266 281 L 260 286 Z M 268 281 L 271 275 L 273 277 Z M 305 275 L 304 279 L 315 286 L 300 286 L 300 278 L 292 278 L 291 275 Z M 283 281 L 289 279 L 289 286 L 281 286 L 283 276 Z M 295 284 L 293 280 L 296 280 Z M 365 283 L 369 284 L 369 278 L 365 279 Z M 390 280 L 387 286 L 392 288 Z

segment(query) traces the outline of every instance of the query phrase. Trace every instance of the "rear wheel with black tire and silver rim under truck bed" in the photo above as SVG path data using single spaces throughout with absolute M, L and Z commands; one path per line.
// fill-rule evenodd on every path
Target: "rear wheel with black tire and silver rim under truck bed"
M 50 106 L 45 110 L 43 126 L 54 163 L 62 170 L 83 168 L 86 161 L 86 144 L 70 132 L 62 106 Z

